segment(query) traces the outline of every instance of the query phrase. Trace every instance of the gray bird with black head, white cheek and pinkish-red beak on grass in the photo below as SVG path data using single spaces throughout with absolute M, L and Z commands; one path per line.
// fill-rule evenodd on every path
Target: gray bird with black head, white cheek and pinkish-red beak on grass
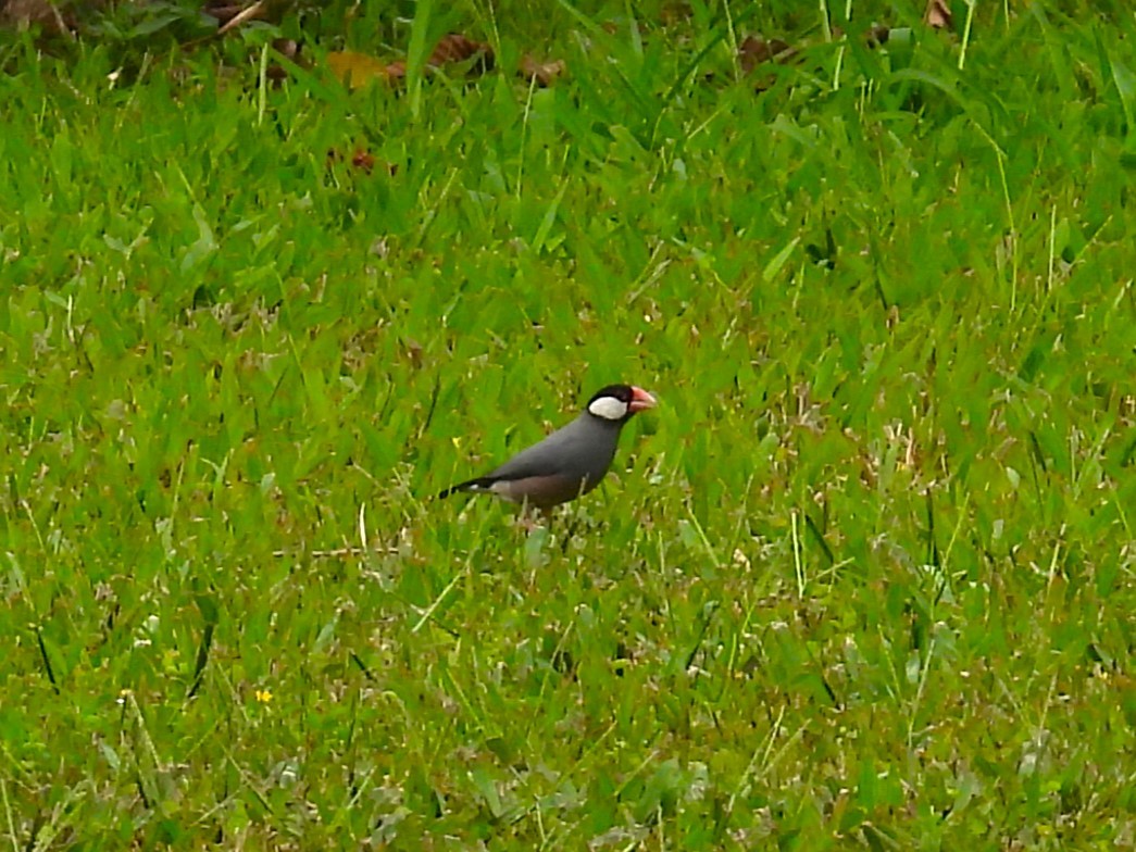
M 537 444 L 521 450 L 487 476 L 446 488 L 496 494 L 512 503 L 551 509 L 586 494 L 603 479 L 616 456 L 619 432 L 636 411 L 654 408 L 642 387 L 608 385 L 575 420 Z

